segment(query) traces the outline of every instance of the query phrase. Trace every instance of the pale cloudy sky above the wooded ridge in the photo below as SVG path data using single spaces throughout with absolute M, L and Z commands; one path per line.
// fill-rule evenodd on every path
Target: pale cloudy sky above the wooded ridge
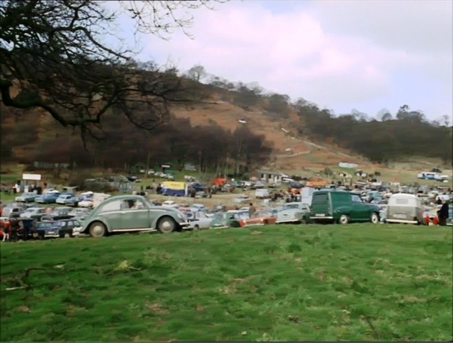
M 198 9 L 192 39 L 139 36 L 140 61 L 304 98 L 336 115 L 453 115 L 453 1 L 232 0 Z M 132 23 L 121 17 L 125 37 Z M 207 82 L 208 79 L 203 81 Z

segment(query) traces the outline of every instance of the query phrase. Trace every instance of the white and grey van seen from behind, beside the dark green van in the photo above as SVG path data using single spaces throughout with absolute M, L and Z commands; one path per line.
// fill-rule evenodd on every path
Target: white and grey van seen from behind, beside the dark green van
M 396 193 L 388 199 L 385 222 L 423 223 L 421 200 L 414 194 Z

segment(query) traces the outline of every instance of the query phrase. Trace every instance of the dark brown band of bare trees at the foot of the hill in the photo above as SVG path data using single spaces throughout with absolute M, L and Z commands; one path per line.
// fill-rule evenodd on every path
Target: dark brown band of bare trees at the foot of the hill
M 17 110 L 1 110 L 2 160 L 28 165 L 42 161 L 69 163 L 72 168 L 128 171 L 137 163 L 154 167 L 172 162 L 180 169 L 192 163 L 199 171 L 225 176 L 265 164 L 272 152 L 265 137 L 253 134 L 246 126 L 231 132 L 212 123 L 192 127 L 188 118 L 172 118 L 149 132 L 118 115 L 114 108 L 105 114 L 102 136 L 87 137 L 84 149 L 77 128 L 55 125 L 46 116 L 22 121 L 23 114 Z

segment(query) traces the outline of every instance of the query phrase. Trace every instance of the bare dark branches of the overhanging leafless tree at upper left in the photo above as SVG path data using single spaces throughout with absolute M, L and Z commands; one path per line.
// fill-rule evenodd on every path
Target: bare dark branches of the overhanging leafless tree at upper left
M 174 29 L 188 34 L 190 12 L 212 2 L 117 3 L 135 20 L 136 32 L 165 39 Z M 130 48 L 120 40 L 115 48 L 104 43 L 118 14 L 104 6 L 90 0 L 0 0 L 3 105 L 39 109 L 63 126 L 79 127 L 83 138 L 99 134 L 110 109 L 143 129 L 161 123 L 168 103 L 183 100 L 181 81 L 158 70 L 139 72 L 132 68 Z

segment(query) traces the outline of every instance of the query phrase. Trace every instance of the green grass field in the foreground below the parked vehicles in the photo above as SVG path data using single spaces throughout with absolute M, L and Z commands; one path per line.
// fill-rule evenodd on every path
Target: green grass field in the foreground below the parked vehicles
M 452 229 L 279 225 L 3 243 L 0 327 L 1 341 L 449 341 Z

